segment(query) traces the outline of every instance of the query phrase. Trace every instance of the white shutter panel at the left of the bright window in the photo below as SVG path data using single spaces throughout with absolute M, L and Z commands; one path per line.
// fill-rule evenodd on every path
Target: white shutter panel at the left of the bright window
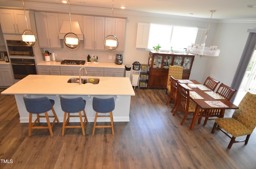
M 150 24 L 138 23 L 136 48 L 148 48 L 148 37 L 150 31 Z

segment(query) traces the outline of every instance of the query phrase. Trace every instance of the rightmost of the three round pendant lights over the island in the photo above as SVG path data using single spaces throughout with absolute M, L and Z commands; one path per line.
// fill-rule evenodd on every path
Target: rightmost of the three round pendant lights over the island
M 108 35 L 104 39 L 104 45 L 110 51 L 115 50 L 118 47 L 118 39 L 116 38 L 116 36 L 112 35 L 112 31 L 113 31 L 113 8 L 114 8 L 114 0 L 112 2 L 111 35 Z

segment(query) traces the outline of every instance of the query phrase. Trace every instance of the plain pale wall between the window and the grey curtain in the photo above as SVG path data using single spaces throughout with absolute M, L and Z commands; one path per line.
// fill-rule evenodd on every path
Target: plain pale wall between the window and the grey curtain
M 254 28 L 256 23 L 218 24 L 214 42 L 221 50 L 220 56 L 208 59 L 204 79 L 210 75 L 221 83 L 231 85 L 249 34 L 247 29 Z

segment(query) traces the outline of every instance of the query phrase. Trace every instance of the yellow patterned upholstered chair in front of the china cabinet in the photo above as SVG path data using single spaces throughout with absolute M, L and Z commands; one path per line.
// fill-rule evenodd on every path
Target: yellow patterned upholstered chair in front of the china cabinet
M 182 75 L 183 75 L 183 67 L 182 66 L 178 66 L 178 65 L 174 65 L 174 66 L 169 66 L 169 71 L 168 71 L 168 79 L 167 79 L 167 85 L 166 85 L 166 93 L 170 92 L 170 88 L 171 88 L 171 82 L 170 82 L 170 75 L 172 75 L 172 77 L 174 79 L 182 79 Z

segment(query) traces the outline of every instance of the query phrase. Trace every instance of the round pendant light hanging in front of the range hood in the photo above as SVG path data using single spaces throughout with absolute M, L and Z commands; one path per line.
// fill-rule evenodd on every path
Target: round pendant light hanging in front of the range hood
M 69 48 L 76 48 L 78 47 L 80 40 L 78 36 L 75 33 L 72 33 L 72 26 L 71 26 L 71 14 L 70 14 L 70 2 L 68 0 L 68 6 L 69 6 L 69 19 L 70 19 L 70 32 L 66 33 L 64 36 L 64 43 Z

